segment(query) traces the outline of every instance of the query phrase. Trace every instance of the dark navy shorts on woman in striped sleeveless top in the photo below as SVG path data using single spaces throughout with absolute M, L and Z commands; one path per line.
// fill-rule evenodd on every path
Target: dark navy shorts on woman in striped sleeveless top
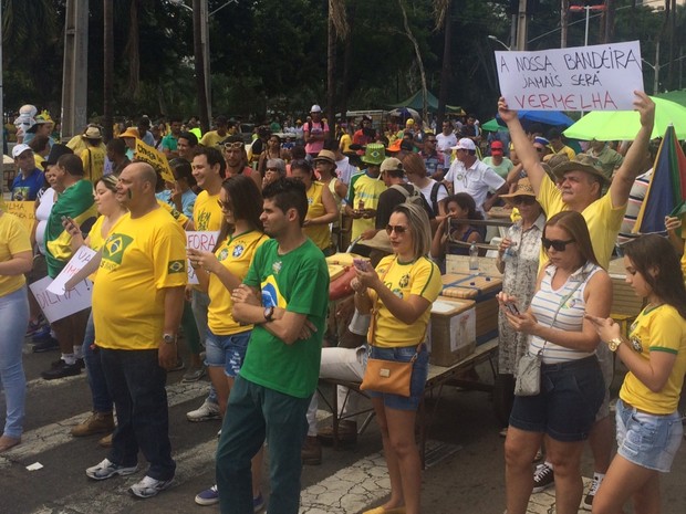
M 544 432 L 562 442 L 583 441 L 605 396 L 603 374 L 594 355 L 561 364 L 541 365 L 541 392 L 517 396 L 510 424 Z

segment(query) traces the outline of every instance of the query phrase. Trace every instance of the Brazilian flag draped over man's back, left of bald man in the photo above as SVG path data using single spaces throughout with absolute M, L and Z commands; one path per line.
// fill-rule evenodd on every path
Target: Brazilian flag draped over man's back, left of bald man
M 79 180 L 58 197 L 52 207 L 45 227 L 45 261 L 48 274 L 54 279 L 72 258 L 72 237 L 62 227 L 62 217 L 73 219 L 87 233 L 97 218 L 93 200 L 93 185 L 89 180 Z

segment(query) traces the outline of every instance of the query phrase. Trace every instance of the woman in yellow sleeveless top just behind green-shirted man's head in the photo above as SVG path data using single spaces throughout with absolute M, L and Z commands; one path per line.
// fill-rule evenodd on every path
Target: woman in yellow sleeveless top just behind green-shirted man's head
M 291 175 L 302 180 L 308 195 L 308 216 L 305 216 L 305 234 L 324 252 L 332 255 L 331 227 L 339 219 L 339 210 L 329 188 L 316 180 L 312 165 L 305 159 L 291 162 Z

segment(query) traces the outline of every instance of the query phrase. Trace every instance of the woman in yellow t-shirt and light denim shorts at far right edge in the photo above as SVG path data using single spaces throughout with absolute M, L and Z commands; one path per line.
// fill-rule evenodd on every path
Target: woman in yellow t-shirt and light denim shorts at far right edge
M 616 406 L 617 454 L 593 501 L 594 513 L 659 513 L 659 474 L 668 473 L 682 443 L 678 402 L 686 373 L 686 289 L 666 239 L 626 243 L 626 282 L 647 301 L 628 338 L 609 317 L 586 316 L 628 373 Z

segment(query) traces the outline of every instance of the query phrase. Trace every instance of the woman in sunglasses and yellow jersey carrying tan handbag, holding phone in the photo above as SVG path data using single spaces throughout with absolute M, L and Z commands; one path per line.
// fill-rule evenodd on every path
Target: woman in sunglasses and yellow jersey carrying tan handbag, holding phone
M 418 514 L 422 463 L 415 443 L 415 418 L 428 373 L 428 352 L 423 342 L 441 282 L 436 264 L 427 258 L 432 232 L 422 207 L 397 206 L 386 232 L 394 254 L 382 259 L 376 270 L 357 268 L 351 282 L 355 308 L 373 314 L 367 336 L 373 358 L 416 360 L 409 397 L 370 391 L 391 478 L 391 497 L 365 514 Z

